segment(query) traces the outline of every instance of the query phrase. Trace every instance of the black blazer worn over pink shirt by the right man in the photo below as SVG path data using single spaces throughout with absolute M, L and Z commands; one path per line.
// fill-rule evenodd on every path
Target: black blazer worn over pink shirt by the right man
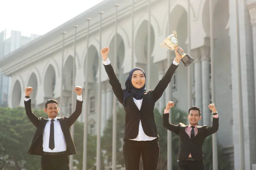
M 204 161 L 202 149 L 204 139 L 207 136 L 217 132 L 218 130 L 218 118 L 212 117 L 212 119 L 212 126 L 198 126 L 197 135 L 193 140 L 190 140 L 188 134 L 185 131 L 185 127 L 187 127 L 188 125 L 184 125 L 183 123 L 179 123 L 179 125 L 170 124 L 169 113 L 163 114 L 163 127 L 171 130 L 172 132 L 180 136 L 178 160 L 187 159 L 189 157 L 189 153 L 191 153 L 193 159 L 198 161 Z

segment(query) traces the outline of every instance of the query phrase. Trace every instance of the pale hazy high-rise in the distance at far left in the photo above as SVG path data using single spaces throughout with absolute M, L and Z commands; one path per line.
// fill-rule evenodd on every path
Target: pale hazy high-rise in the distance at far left
M 3 30 L 0 32 L 0 59 L 15 51 L 17 48 L 39 37 L 36 34 L 24 35 L 23 32 Z M 9 77 L 0 71 L 0 106 L 8 106 Z

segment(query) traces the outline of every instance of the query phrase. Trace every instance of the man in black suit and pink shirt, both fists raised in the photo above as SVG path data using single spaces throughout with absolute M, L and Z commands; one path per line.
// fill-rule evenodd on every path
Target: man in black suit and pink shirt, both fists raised
M 189 108 L 189 125 L 179 123 L 173 125 L 169 123 L 169 109 L 174 106 L 174 102 L 169 101 L 163 113 L 163 127 L 180 136 L 180 147 L 178 152 L 179 170 L 204 170 L 203 143 L 204 139 L 217 132 L 218 114 L 214 104 L 209 104 L 212 111 L 212 126 L 198 126 L 201 120 L 200 108 L 193 106 Z

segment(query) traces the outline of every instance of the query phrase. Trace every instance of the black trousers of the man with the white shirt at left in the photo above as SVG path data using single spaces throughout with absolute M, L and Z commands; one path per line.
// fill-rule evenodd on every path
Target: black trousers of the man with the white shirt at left
M 67 155 L 43 155 L 41 158 L 42 170 L 69 170 Z

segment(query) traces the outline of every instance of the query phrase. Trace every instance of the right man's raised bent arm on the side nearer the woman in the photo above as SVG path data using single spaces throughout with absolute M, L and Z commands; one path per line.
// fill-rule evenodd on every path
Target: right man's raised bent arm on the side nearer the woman
M 169 123 L 169 110 L 174 106 L 174 102 L 169 101 L 163 113 L 163 127 L 179 135 L 179 125 Z

